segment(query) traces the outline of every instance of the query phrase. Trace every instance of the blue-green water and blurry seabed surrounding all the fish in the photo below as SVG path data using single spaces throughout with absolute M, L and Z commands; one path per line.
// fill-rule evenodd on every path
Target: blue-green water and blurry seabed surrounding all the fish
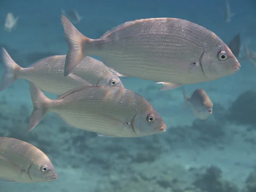
M 16 30 L 0 28 L 0 47 L 21 67 L 66 54 L 61 9 L 76 9 L 84 17 L 76 28 L 90 38 L 130 20 L 175 17 L 206 27 L 226 44 L 240 33 L 241 43 L 256 52 L 256 0 L 229 2 L 235 15 L 226 23 L 224 0 L 0 0 L 0 23 L 8 12 L 19 16 Z M 196 119 L 191 108 L 183 110 L 181 88 L 159 91 L 153 81 L 120 77 L 168 126 L 165 133 L 138 138 L 97 137 L 52 113 L 27 132 L 33 109 L 29 84 L 16 81 L 0 92 L 0 137 L 44 151 L 58 180 L 0 182 L 0 192 L 256 192 L 256 68 L 240 61 L 242 56 L 243 49 L 238 73 L 184 86 L 189 96 L 202 88 L 211 98 L 213 112 L 206 120 Z

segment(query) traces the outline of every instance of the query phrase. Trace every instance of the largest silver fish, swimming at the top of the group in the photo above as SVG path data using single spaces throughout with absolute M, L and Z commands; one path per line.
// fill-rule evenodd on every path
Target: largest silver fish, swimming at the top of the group
M 241 67 L 217 35 L 187 20 L 129 21 L 99 39 L 85 37 L 63 15 L 61 23 L 69 46 L 64 76 L 87 55 L 99 55 L 118 76 L 162 83 L 162 90 L 218 79 Z

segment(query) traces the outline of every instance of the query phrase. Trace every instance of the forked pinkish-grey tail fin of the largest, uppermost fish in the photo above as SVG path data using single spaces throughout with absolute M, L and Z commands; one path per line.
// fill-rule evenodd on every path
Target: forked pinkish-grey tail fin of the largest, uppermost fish
M 64 15 L 61 15 L 61 23 L 69 47 L 64 67 L 64 76 L 67 76 L 87 56 L 84 55 L 83 44 L 90 39 L 81 34 Z

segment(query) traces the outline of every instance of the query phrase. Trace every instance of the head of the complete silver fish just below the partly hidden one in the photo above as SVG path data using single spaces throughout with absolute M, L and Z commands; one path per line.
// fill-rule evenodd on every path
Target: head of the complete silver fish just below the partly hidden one
M 166 124 L 161 116 L 149 106 L 146 110 L 140 110 L 132 123 L 134 131 L 139 136 L 153 135 L 166 132 Z

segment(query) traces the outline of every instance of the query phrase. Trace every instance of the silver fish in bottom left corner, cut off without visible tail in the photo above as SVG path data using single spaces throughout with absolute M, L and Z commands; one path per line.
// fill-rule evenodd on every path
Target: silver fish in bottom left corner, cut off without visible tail
M 0 181 L 42 183 L 58 178 L 44 152 L 21 140 L 0 137 Z

